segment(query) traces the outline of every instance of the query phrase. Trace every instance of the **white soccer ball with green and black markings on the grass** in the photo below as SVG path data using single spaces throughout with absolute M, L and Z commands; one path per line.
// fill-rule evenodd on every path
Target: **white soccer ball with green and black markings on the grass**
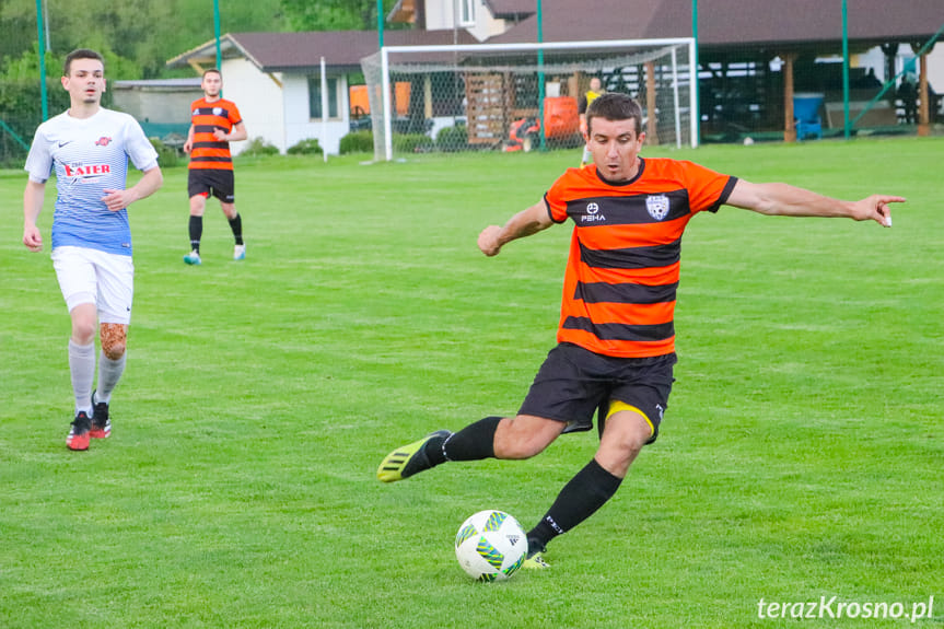
M 456 534 L 456 559 L 478 581 L 509 579 L 527 557 L 527 535 L 503 511 L 479 511 Z

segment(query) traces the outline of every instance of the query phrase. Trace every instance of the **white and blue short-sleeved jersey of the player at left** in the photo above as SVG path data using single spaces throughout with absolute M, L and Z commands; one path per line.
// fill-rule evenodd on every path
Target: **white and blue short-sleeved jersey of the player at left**
M 91 118 L 68 112 L 39 125 L 25 170 L 45 184 L 56 170 L 53 248 L 88 247 L 131 255 L 128 210 L 108 210 L 104 190 L 125 189 L 128 159 L 140 171 L 158 165 L 158 152 L 128 114 L 100 109 Z

